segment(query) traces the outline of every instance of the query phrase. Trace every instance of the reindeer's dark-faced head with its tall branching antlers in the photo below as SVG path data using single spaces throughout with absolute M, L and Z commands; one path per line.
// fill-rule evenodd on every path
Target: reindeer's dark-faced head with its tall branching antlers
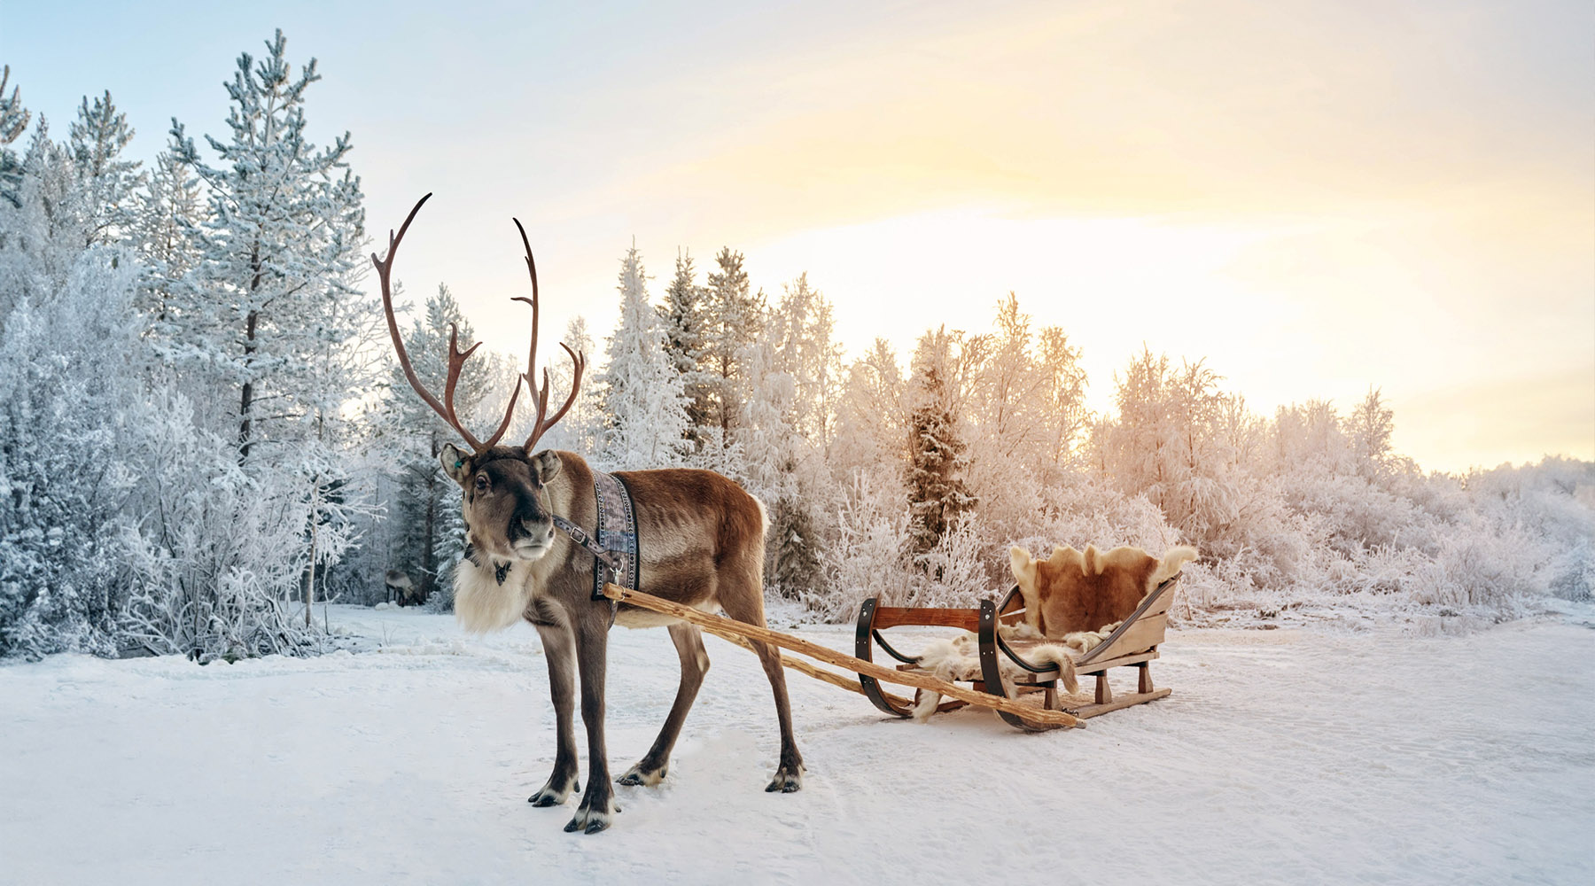
M 376 265 L 376 276 L 381 279 L 388 333 L 394 339 L 394 351 L 399 354 L 399 365 L 404 368 L 405 378 L 410 379 L 410 387 L 415 387 L 421 400 L 432 406 L 450 427 L 459 432 L 466 445 L 471 446 L 467 453 L 455 445 L 445 445 L 439 454 L 443 473 L 453 478 L 464 492 L 463 507 L 471 545 L 499 563 L 539 559 L 553 547 L 553 510 L 549 507 L 547 484 L 560 473 L 561 462 L 557 453 L 533 453 L 538 440 L 558 424 L 565 418 L 565 413 L 569 411 L 571 403 L 576 402 L 576 392 L 581 390 L 582 384 L 582 370 L 587 368 L 587 357 L 571 351 L 563 343 L 560 344 L 571 355 L 576 371 L 571 379 L 571 394 L 565 398 L 565 405 L 549 416 L 549 370 L 542 370 L 541 390 L 533 381 L 538 359 L 538 265 L 531 258 L 531 244 L 526 241 L 526 229 L 522 228 L 517 218 L 515 228 L 520 229 L 520 242 L 526 249 L 526 271 L 531 274 L 531 298 L 515 298 L 515 301 L 531 304 L 531 349 L 526 355 L 526 371 L 515 381 L 515 390 L 510 392 L 509 405 L 504 408 L 504 419 L 499 422 L 498 430 L 493 432 L 493 437 L 480 441 L 466 430 L 466 425 L 455 414 L 455 386 L 459 382 L 459 371 L 464 368 L 466 360 L 471 359 L 471 354 L 482 343 L 478 341 L 466 351 L 459 351 L 458 330 L 450 327 L 448 376 L 443 382 L 443 398 L 439 400 L 421 384 L 421 379 L 415 374 L 415 367 L 410 365 L 410 354 L 405 352 L 404 339 L 399 336 L 399 320 L 394 317 L 392 288 L 389 285 L 399 242 L 410 228 L 410 222 L 415 220 L 416 212 L 421 210 L 421 206 L 431 196 L 426 194 L 415 204 L 415 209 L 405 217 L 404 225 L 399 226 L 397 234 L 389 231 L 388 258 L 383 260 L 375 253 L 372 255 L 372 263 Z M 526 437 L 525 443 L 520 446 L 499 446 L 498 441 L 504 437 L 509 421 L 515 414 L 522 379 L 525 379 L 528 389 L 538 390 L 538 421 L 533 422 L 531 435 Z

